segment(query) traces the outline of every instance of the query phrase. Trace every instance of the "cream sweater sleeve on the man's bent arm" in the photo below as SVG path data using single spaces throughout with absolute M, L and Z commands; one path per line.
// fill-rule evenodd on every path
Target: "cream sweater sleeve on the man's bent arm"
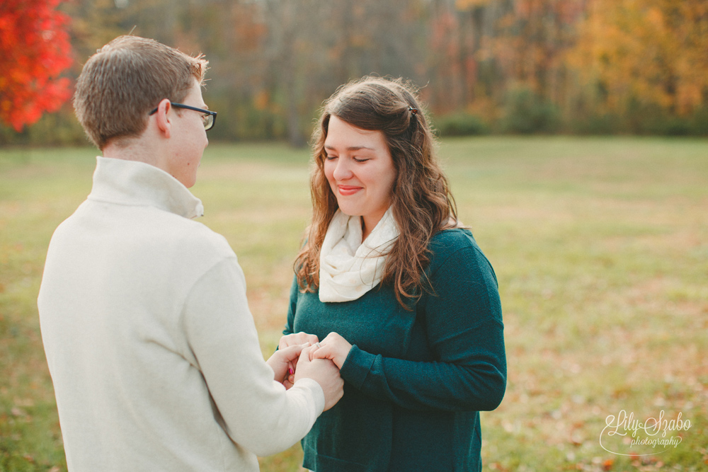
M 183 323 L 222 427 L 236 444 L 267 456 L 307 434 L 324 409 L 324 393 L 312 379 L 300 379 L 287 391 L 273 380 L 235 256 L 217 263 L 195 283 Z

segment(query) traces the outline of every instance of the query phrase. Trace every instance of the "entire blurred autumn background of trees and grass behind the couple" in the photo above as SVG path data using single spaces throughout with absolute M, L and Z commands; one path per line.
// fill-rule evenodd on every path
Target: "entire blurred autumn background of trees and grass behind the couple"
M 708 1 L 0 0 L 0 472 L 67 470 L 36 299 L 91 191 L 76 76 L 128 33 L 210 60 L 219 120 L 191 190 L 239 256 L 264 356 L 317 110 L 350 79 L 402 76 L 499 281 L 508 385 L 481 413 L 484 470 L 707 470 Z M 661 451 L 600 444 L 622 410 L 690 427 Z M 259 460 L 302 471 L 299 444 Z

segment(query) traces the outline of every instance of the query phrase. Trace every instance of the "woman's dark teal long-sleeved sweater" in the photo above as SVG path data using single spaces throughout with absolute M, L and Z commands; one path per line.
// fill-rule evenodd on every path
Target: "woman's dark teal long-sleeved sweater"
M 463 229 L 440 231 L 426 269 L 434 293 L 413 311 L 379 286 L 360 299 L 323 303 L 293 282 L 284 334 L 332 331 L 352 345 L 343 398 L 302 440 L 316 472 L 479 471 L 479 411 L 506 389 L 496 275 Z

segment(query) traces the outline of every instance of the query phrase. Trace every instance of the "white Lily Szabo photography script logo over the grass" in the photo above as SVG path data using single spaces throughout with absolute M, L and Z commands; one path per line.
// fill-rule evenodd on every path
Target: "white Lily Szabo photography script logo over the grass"
M 653 456 L 676 448 L 683 441 L 680 432 L 688 431 L 690 420 L 683 414 L 668 418 L 661 410 L 658 418 L 635 418 L 634 413 L 621 410 L 617 416 L 607 415 L 600 433 L 600 446 L 620 456 Z

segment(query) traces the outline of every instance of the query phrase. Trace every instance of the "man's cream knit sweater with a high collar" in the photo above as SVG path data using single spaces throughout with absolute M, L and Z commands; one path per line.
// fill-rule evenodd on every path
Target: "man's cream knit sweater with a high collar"
M 263 362 L 227 241 L 159 168 L 97 158 L 50 243 L 38 306 L 69 471 L 257 471 L 324 408 Z

